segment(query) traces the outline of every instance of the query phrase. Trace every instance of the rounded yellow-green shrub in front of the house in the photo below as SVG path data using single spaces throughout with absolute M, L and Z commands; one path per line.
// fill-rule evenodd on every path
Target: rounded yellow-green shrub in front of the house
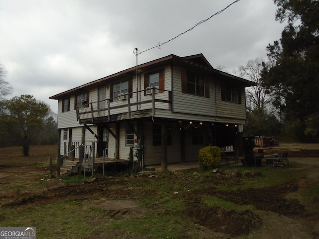
M 221 159 L 220 148 L 217 146 L 207 146 L 199 149 L 198 163 L 202 168 L 216 167 Z

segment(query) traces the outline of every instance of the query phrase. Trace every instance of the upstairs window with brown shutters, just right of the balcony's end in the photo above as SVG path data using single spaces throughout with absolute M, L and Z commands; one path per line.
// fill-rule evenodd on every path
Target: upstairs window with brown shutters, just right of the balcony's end
M 182 93 L 209 98 L 209 83 L 202 74 L 182 70 L 181 71 Z

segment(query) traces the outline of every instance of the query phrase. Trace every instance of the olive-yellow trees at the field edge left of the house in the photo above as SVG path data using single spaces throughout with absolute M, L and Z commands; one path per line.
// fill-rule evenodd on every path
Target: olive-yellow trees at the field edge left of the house
M 56 116 L 44 102 L 31 95 L 7 100 L 12 87 L 4 80 L 5 68 L 0 64 L 0 147 L 22 146 L 24 156 L 36 144 L 56 144 Z

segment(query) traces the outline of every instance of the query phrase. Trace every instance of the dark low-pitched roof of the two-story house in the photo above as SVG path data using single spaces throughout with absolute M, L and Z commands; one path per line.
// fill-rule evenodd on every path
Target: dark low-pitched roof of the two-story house
M 117 81 L 126 77 L 132 77 L 136 74 L 136 72 L 147 72 L 152 69 L 160 68 L 165 65 L 178 65 L 181 67 L 185 67 L 187 69 L 192 69 L 196 71 L 201 71 L 203 73 L 218 76 L 218 78 L 223 79 L 225 81 L 231 81 L 233 83 L 244 85 L 245 87 L 255 86 L 256 83 L 252 81 L 248 81 L 246 79 L 233 76 L 231 74 L 228 74 L 226 72 L 219 71 L 217 69 L 214 69 L 210 63 L 207 61 L 207 59 L 204 57 L 203 54 L 197 54 L 192 56 L 185 56 L 185 57 L 179 57 L 176 55 L 168 55 L 141 65 L 137 65 L 135 67 L 131 67 L 129 69 L 126 69 L 124 71 L 120 71 L 118 73 L 103 77 L 101 79 L 86 83 L 84 85 L 75 87 L 73 89 L 64 91 L 62 93 L 56 94 L 54 96 L 49 97 L 49 99 L 58 100 L 64 96 L 77 94 L 79 92 L 91 89 L 93 87 L 98 87 L 105 85 L 107 83 Z

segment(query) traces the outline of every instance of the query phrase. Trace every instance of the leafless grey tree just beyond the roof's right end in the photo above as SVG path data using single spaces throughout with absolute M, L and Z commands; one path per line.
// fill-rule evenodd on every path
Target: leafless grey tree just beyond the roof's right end
M 261 81 L 262 63 L 263 61 L 260 58 L 249 60 L 246 66 L 240 65 L 235 71 L 235 74 L 239 77 L 243 77 L 257 84 L 254 87 L 249 87 L 246 91 L 246 101 L 249 111 L 266 111 L 267 107 L 270 106 L 270 98 L 266 94 L 266 89 L 262 86 Z

